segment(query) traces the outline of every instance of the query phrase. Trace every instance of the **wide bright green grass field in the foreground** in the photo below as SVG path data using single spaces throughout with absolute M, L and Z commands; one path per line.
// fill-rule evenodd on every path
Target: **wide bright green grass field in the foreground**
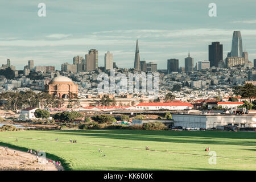
M 253 132 L 9 131 L 0 133 L 0 146 L 46 151 L 47 158 L 61 160 L 67 170 L 256 170 Z M 216 152 L 216 165 L 208 163 L 206 147 Z

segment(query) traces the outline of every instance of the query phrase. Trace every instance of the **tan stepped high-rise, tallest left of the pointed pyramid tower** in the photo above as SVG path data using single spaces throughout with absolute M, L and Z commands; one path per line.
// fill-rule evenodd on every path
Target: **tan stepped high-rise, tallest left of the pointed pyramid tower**
M 98 51 L 90 49 L 88 55 L 85 55 L 86 71 L 98 70 Z

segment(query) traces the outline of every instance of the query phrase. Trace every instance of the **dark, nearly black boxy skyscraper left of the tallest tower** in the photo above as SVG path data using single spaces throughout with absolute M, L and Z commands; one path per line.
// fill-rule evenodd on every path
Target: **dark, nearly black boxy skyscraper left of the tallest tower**
M 220 42 L 212 42 L 212 45 L 209 45 L 210 67 L 218 68 L 220 60 L 223 60 L 223 45 Z

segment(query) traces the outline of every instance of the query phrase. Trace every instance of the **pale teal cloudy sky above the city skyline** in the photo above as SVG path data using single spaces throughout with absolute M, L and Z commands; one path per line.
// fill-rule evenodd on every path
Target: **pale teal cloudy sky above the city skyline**
M 255 0 L 12 0 L 0 6 L 0 64 L 6 59 L 23 69 L 35 65 L 73 63 L 76 55 L 98 50 L 98 65 L 110 51 L 121 68 L 133 68 L 136 40 L 141 60 L 167 69 L 167 59 L 188 56 L 208 60 L 208 45 L 223 44 L 224 59 L 231 51 L 233 31 L 241 31 L 243 49 L 256 59 Z M 46 17 L 38 4 L 46 4 Z M 209 3 L 217 16 L 210 17 Z

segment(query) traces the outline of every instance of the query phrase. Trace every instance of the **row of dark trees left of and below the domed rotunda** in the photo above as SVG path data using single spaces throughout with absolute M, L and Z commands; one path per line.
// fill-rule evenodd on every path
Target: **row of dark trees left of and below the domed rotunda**
M 9 110 L 23 109 L 23 105 L 29 107 L 59 107 L 64 103 L 62 98 L 50 95 L 46 92 L 4 92 L 0 94 L 0 98 L 6 100 L 6 103 L 2 104 L 3 109 Z

